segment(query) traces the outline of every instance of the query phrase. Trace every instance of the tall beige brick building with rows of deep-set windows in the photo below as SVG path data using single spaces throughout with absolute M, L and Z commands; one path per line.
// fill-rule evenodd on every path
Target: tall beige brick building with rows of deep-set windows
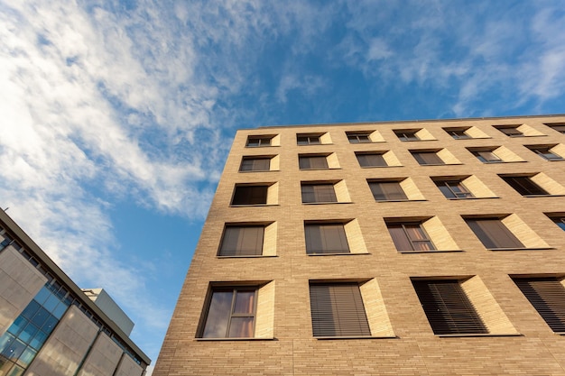
M 240 130 L 155 376 L 565 375 L 565 115 Z

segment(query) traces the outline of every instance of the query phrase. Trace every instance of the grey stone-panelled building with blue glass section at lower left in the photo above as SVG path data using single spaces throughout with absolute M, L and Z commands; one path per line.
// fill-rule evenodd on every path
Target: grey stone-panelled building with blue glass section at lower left
M 142 376 L 151 360 L 129 338 L 133 326 L 0 210 L 0 376 Z

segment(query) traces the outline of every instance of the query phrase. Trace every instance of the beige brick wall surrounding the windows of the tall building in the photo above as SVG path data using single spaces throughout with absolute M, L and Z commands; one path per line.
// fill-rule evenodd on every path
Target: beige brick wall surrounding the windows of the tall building
M 544 214 L 565 213 L 565 198 L 522 197 L 498 176 L 542 172 L 565 186 L 565 161 L 548 162 L 523 146 L 565 143 L 565 135 L 544 123 L 565 123 L 565 116 L 239 131 L 153 375 L 565 375 L 565 338 L 551 332 L 508 277 L 565 275 L 565 232 Z M 504 124 L 525 124 L 520 130 L 526 137 L 508 137 L 493 127 Z M 467 133 L 476 138 L 455 140 L 442 130 L 445 127 L 470 127 Z M 394 129 L 425 130 L 419 134 L 426 140 L 401 142 Z M 345 132 L 355 131 L 378 131 L 372 137 L 378 134 L 374 140 L 379 142 L 347 142 Z M 324 133 L 324 141 L 330 143 L 298 146 L 296 133 Z M 245 148 L 249 134 L 276 134 L 276 146 Z M 506 159 L 511 158 L 508 163 L 483 164 L 468 151 L 501 146 Z M 445 150 L 449 161 L 458 164 L 420 166 L 409 151 L 417 149 Z M 385 158 L 396 167 L 362 169 L 355 151 L 389 151 Z M 330 154 L 338 160 L 332 167 L 338 168 L 299 170 L 299 153 Z M 265 154 L 278 156 L 280 170 L 237 171 L 243 156 Z M 465 183 L 477 196 L 468 200 L 446 199 L 431 180 L 468 176 L 472 179 Z M 409 178 L 423 200 L 375 202 L 366 180 L 397 178 Z M 351 202 L 301 204 L 301 181 L 315 180 L 343 180 Z M 264 182 L 278 184 L 275 205 L 229 206 L 236 183 Z M 516 235 L 526 246 L 536 249 L 488 251 L 462 218 L 505 215 L 512 215 L 507 216 L 509 227 L 520 233 Z M 458 252 L 397 252 L 384 217 L 434 218 L 431 225 L 440 224 L 436 227 L 441 231 L 429 232 L 439 237 L 446 251 Z M 366 253 L 306 255 L 304 220 L 326 219 L 355 219 L 355 242 L 362 242 Z M 224 224 L 236 222 L 275 222 L 276 257 L 219 259 Z M 433 334 L 411 278 L 462 276 L 472 277 L 464 287 L 492 335 Z M 309 280 L 368 281 L 362 285 L 362 295 L 373 335 L 391 338 L 314 338 Z M 273 307 L 257 318 L 256 336 L 263 338 L 196 339 L 210 281 L 274 282 L 273 291 L 259 296 L 259 305 Z M 267 326 L 272 336 L 264 335 Z

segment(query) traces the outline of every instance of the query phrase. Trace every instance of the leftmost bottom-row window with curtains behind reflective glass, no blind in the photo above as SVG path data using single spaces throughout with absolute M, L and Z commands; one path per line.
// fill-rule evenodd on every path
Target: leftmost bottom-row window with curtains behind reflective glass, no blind
M 257 288 L 212 290 L 202 338 L 250 338 L 255 335 Z

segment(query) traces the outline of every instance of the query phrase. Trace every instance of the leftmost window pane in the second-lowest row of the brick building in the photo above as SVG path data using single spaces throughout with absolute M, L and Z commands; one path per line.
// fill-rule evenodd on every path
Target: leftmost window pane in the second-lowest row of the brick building
M 263 254 L 263 225 L 227 226 L 219 256 L 256 256 Z

